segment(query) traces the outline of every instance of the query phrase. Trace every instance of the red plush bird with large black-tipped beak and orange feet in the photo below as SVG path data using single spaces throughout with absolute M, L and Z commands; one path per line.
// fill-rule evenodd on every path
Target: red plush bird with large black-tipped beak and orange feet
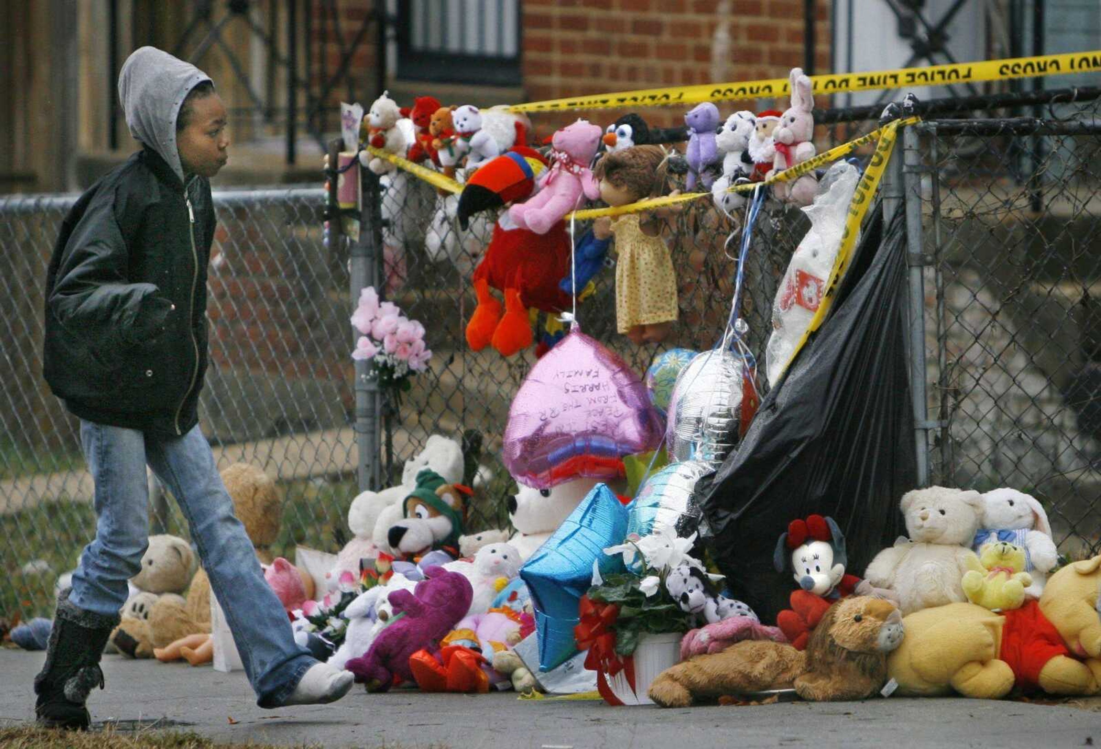
M 524 199 L 535 189 L 535 180 L 546 169 L 537 151 L 516 146 L 486 162 L 470 177 L 459 197 L 459 226 L 470 216 Z M 532 345 L 528 310 L 548 313 L 567 310 L 570 296 L 558 285 L 569 271 L 570 242 L 564 221 L 536 234 L 509 220 L 504 213 L 493 226 L 486 256 L 475 269 L 478 307 L 467 324 L 467 344 L 475 351 L 492 345 L 502 356 L 512 356 Z M 504 308 L 490 289 L 504 294 Z M 503 314 L 502 314 L 503 313 Z

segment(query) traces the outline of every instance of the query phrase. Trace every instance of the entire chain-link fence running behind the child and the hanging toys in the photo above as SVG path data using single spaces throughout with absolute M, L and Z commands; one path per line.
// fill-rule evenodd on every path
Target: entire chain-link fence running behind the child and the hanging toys
M 912 360 L 925 360 L 916 370 L 925 373 L 916 378 L 924 475 L 1034 492 L 1049 508 L 1057 541 L 1079 555 L 1101 547 L 1098 107 L 1095 98 L 1055 99 L 1040 96 L 1045 111 L 1028 126 L 1011 119 L 1021 100 L 930 107 L 893 161 L 916 227 L 912 289 L 919 279 L 924 294 L 911 351 Z M 974 119 L 977 112 L 1001 119 Z M 826 123 L 824 150 L 874 128 L 879 111 L 817 115 Z M 946 119 L 960 116 L 971 119 Z M 974 130 L 980 126 L 988 129 Z M 404 460 L 432 434 L 462 441 L 468 479 L 481 467 L 469 528 L 508 527 L 505 500 L 515 487 L 499 459 L 501 439 L 535 354 L 504 359 L 466 346 L 476 306 L 470 273 L 493 217 L 460 231 L 455 198 L 404 173 L 383 177 L 379 189 L 381 251 L 363 239 L 325 241 L 320 188 L 215 193 L 211 361 L 200 417 L 219 466 L 247 460 L 279 479 L 285 501 L 275 554 L 292 555 L 299 543 L 337 551 L 348 540 L 346 513 L 359 486 L 399 481 Z M 75 566 L 95 528 L 75 422 L 41 378 L 42 284 L 74 200 L 0 199 L 0 308 L 10 329 L 0 410 L 0 616 L 47 614 L 56 575 Z M 668 220 L 680 319 L 664 344 L 634 346 L 617 334 L 610 268 L 578 304 L 582 329 L 640 373 L 666 348 L 713 346 L 730 314 L 740 220 L 709 199 Z M 808 226 L 802 211 L 770 203 L 754 228 L 742 315 L 761 361 L 778 281 Z M 578 224 L 578 235 L 586 228 Z M 435 352 L 400 398 L 357 390 L 348 317 L 364 279 L 424 324 Z M 542 314 L 535 321 L 536 338 L 547 323 Z M 357 434 L 357 399 L 364 394 L 375 404 L 369 432 L 378 459 L 364 455 L 372 470 L 360 478 L 356 442 L 366 435 Z M 173 504 L 154 508 L 155 529 L 187 535 Z

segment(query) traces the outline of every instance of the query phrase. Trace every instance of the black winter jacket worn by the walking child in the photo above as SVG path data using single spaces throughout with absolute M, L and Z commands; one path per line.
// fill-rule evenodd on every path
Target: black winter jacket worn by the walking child
M 80 196 L 46 275 L 44 374 L 80 419 L 186 434 L 207 363 L 210 183 L 143 149 Z

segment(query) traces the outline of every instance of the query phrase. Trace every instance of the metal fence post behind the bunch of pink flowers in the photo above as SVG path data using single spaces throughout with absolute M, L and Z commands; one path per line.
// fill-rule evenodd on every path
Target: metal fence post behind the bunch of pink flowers
M 381 293 L 382 264 L 382 193 L 379 175 L 360 169 L 360 187 L 363 208 L 360 215 L 359 237 L 351 242 L 350 286 L 352 308 L 359 304 L 359 294 L 367 286 Z M 379 384 L 368 377 L 368 362 L 356 362 L 356 448 L 359 463 L 359 489 L 378 491 L 382 484 L 381 436 L 382 393 Z

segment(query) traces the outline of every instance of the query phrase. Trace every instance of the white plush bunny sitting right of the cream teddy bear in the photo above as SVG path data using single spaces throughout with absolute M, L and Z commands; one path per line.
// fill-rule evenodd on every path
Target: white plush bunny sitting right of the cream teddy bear
M 1009 541 L 1025 550 L 1025 568 L 1033 583 L 1025 596 L 1039 598 L 1048 573 L 1059 562 L 1051 539 L 1051 524 L 1035 497 L 1016 489 L 994 489 L 982 496 L 982 518 L 971 547 L 978 552 L 984 543 Z

